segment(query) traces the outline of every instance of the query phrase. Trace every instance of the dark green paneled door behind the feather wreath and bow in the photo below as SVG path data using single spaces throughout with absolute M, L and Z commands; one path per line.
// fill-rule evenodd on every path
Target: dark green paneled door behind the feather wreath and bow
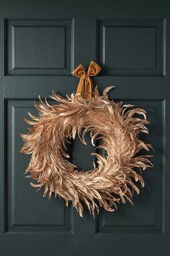
M 0 1 L 0 255 L 168 256 L 170 4 L 169 1 Z M 63 200 L 42 197 L 23 175 L 29 155 L 19 149 L 23 116 L 34 100 L 76 90 L 71 71 L 97 61 L 93 82 L 109 98 L 146 109 L 154 148 L 134 206 L 80 218 Z M 167 118 L 166 118 L 167 117 Z M 93 147 L 73 142 L 73 162 L 92 166 Z

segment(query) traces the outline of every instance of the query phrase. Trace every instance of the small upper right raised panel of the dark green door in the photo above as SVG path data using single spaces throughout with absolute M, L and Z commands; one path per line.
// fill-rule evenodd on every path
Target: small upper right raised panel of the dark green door
M 97 20 L 105 75 L 165 76 L 166 20 Z

